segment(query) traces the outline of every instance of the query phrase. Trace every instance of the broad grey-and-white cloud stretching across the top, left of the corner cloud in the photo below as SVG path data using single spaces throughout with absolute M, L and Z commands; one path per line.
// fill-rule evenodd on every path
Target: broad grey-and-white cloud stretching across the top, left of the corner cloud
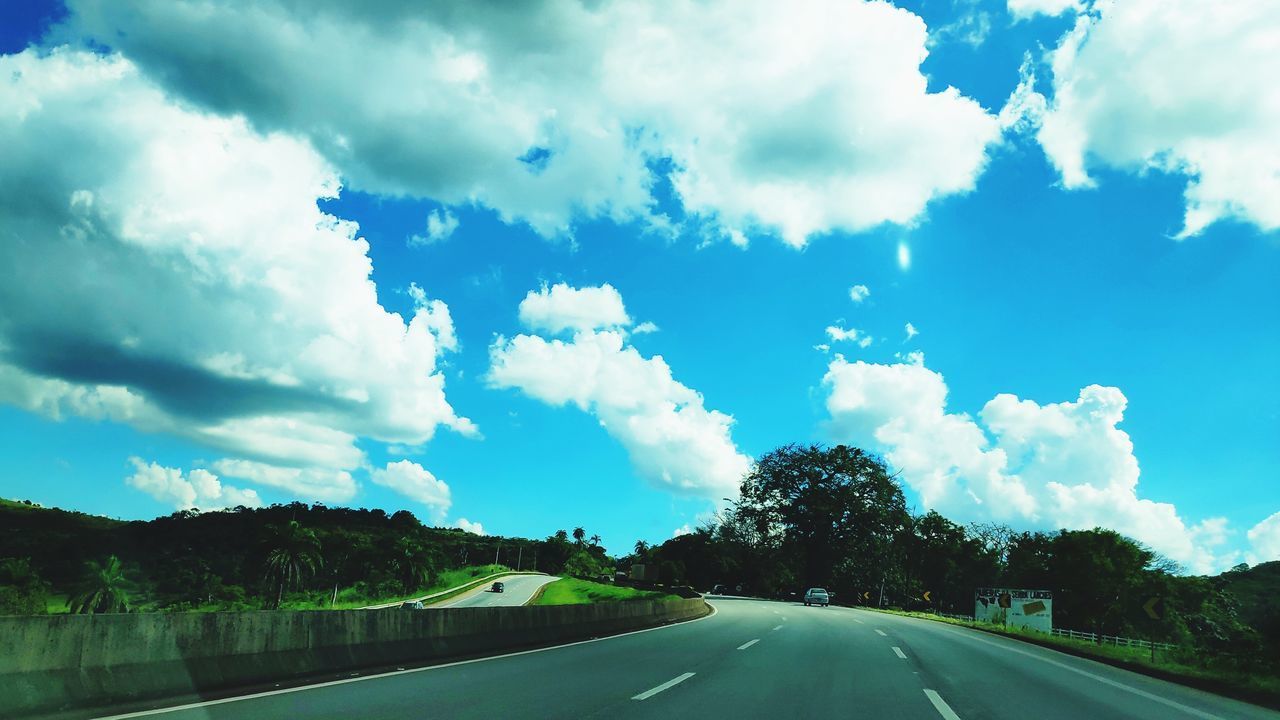
M 654 159 L 739 243 L 911 223 L 973 187 L 1000 133 L 957 90 L 929 92 L 924 22 L 879 1 L 68 5 L 61 37 L 305 136 L 352 187 L 545 236 L 666 227 Z

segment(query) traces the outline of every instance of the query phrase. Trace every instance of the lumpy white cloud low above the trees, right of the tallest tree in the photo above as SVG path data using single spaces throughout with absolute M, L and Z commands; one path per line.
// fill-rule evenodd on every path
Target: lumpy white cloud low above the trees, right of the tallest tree
M 1102 525 L 1194 571 L 1229 564 L 1225 520 L 1189 525 L 1172 505 L 1138 496 L 1117 388 L 1048 405 L 1002 393 L 974 419 L 947 411 L 946 382 L 919 354 L 891 365 L 837 356 L 823 384 L 832 434 L 883 452 L 925 507 L 1028 528 Z

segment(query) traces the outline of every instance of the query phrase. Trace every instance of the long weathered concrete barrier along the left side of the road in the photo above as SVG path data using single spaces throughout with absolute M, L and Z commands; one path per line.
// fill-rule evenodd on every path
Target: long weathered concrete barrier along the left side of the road
M 0 717 L 108 707 L 690 620 L 698 600 L 0 618 Z

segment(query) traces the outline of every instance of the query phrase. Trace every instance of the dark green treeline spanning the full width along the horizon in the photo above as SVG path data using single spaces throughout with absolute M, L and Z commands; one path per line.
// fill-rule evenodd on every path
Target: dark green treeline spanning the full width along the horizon
M 424 525 L 406 510 L 274 505 L 120 521 L 0 501 L 0 614 L 358 607 L 494 566 L 969 615 L 974 589 L 1053 593 L 1060 628 L 1178 643 L 1280 669 L 1280 561 L 1188 575 L 1124 534 L 1016 532 L 914 512 L 882 459 L 847 446 L 765 454 L 695 532 L 611 556 L 584 528 L 544 539 Z M 1146 606 L 1152 600 L 1158 619 Z

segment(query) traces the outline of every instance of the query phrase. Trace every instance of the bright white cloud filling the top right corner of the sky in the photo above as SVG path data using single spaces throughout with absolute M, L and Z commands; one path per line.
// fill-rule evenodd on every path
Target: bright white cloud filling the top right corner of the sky
M 1097 1 L 1051 54 L 1038 140 L 1066 187 L 1091 167 L 1185 174 L 1180 237 L 1280 228 L 1280 3 Z

